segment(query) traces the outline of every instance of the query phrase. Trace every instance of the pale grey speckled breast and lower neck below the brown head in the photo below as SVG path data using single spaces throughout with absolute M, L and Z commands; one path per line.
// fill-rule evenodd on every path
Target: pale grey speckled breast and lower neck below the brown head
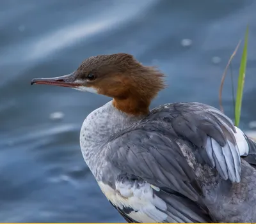
M 143 116 L 131 116 L 118 110 L 113 106 L 113 101 L 97 108 L 86 117 L 81 128 L 80 145 L 84 160 L 94 175 L 99 160 L 104 160 L 101 154 L 102 146 L 107 144 L 112 136 L 142 118 Z

